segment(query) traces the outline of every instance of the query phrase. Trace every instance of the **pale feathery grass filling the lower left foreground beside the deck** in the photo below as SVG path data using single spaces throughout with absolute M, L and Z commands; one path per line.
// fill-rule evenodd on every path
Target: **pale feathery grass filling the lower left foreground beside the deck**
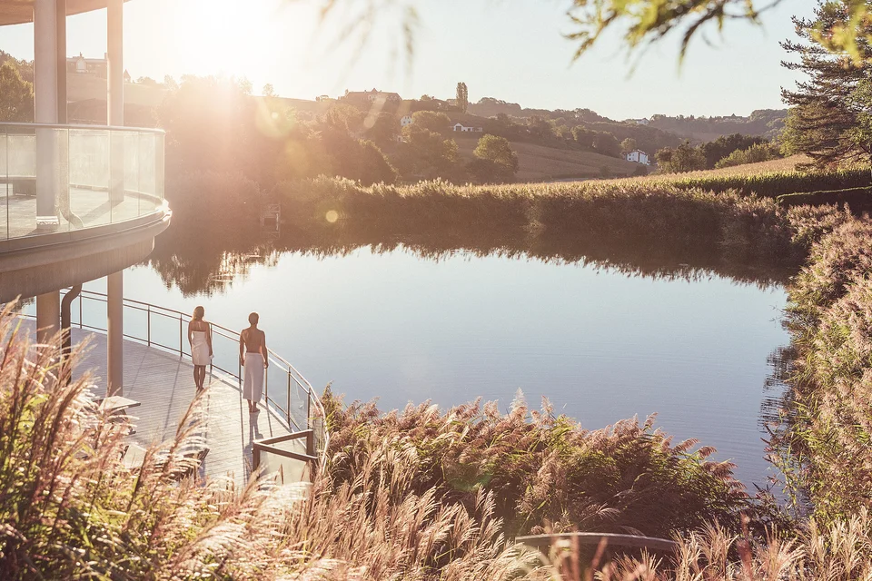
M 96 412 L 87 376 L 67 382 L 80 350 L 57 362 L 57 343 L 36 349 L 8 311 L 0 338 L 0 579 L 543 578 L 492 497 L 438 503 L 392 448 L 372 448 L 345 484 L 240 488 L 185 476 L 189 413 L 125 468 L 126 426 Z

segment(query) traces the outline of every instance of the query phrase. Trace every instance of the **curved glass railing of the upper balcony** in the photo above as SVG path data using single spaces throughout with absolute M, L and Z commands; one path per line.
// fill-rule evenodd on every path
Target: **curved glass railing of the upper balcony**
M 0 241 L 164 207 L 163 131 L 0 123 Z

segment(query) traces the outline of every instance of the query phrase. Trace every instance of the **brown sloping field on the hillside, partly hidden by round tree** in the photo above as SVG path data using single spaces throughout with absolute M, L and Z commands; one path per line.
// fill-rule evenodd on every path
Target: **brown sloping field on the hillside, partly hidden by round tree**
M 454 136 L 458 153 L 463 158 L 472 159 L 472 152 L 478 138 Z M 533 143 L 511 143 L 511 149 L 518 153 L 520 169 L 517 179 L 520 182 L 548 182 L 566 178 L 599 178 L 602 169 L 608 168 L 609 175 L 632 175 L 638 163 L 627 162 L 593 152 L 580 152 L 567 149 L 545 147 Z

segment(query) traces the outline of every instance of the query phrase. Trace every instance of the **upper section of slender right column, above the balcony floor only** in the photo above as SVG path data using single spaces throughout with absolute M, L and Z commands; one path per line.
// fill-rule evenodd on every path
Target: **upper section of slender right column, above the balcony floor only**
M 106 87 L 108 124 L 124 126 L 124 0 L 108 0 L 107 35 L 109 61 Z M 124 133 L 110 132 L 109 198 L 113 203 L 124 202 Z

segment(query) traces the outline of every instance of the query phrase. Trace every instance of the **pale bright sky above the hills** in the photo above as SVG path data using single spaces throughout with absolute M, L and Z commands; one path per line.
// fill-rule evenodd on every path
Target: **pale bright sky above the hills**
M 338 3 L 342 5 L 342 3 Z M 352 4 L 352 3 L 349 3 Z M 360 4 L 363 4 L 362 2 Z M 265 83 L 286 97 L 336 96 L 345 89 L 396 91 L 404 97 L 493 96 L 526 107 L 587 107 L 615 119 L 654 113 L 748 114 L 781 108 L 780 87 L 797 74 L 779 66 L 780 40 L 793 37 L 791 15 L 811 15 L 815 0 L 787 0 L 763 26 L 709 28 L 684 64 L 678 40 L 649 50 L 635 71 L 612 35 L 572 63 L 566 0 L 420 0 L 421 27 L 407 66 L 398 15 L 387 15 L 363 48 L 339 42 L 345 19 L 319 25 L 315 0 L 132 0 L 124 8 L 124 65 L 134 78 L 235 74 L 255 93 Z M 71 16 L 70 55 L 102 56 L 105 11 Z M 34 55 L 33 25 L 0 27 L 0 49 Z

